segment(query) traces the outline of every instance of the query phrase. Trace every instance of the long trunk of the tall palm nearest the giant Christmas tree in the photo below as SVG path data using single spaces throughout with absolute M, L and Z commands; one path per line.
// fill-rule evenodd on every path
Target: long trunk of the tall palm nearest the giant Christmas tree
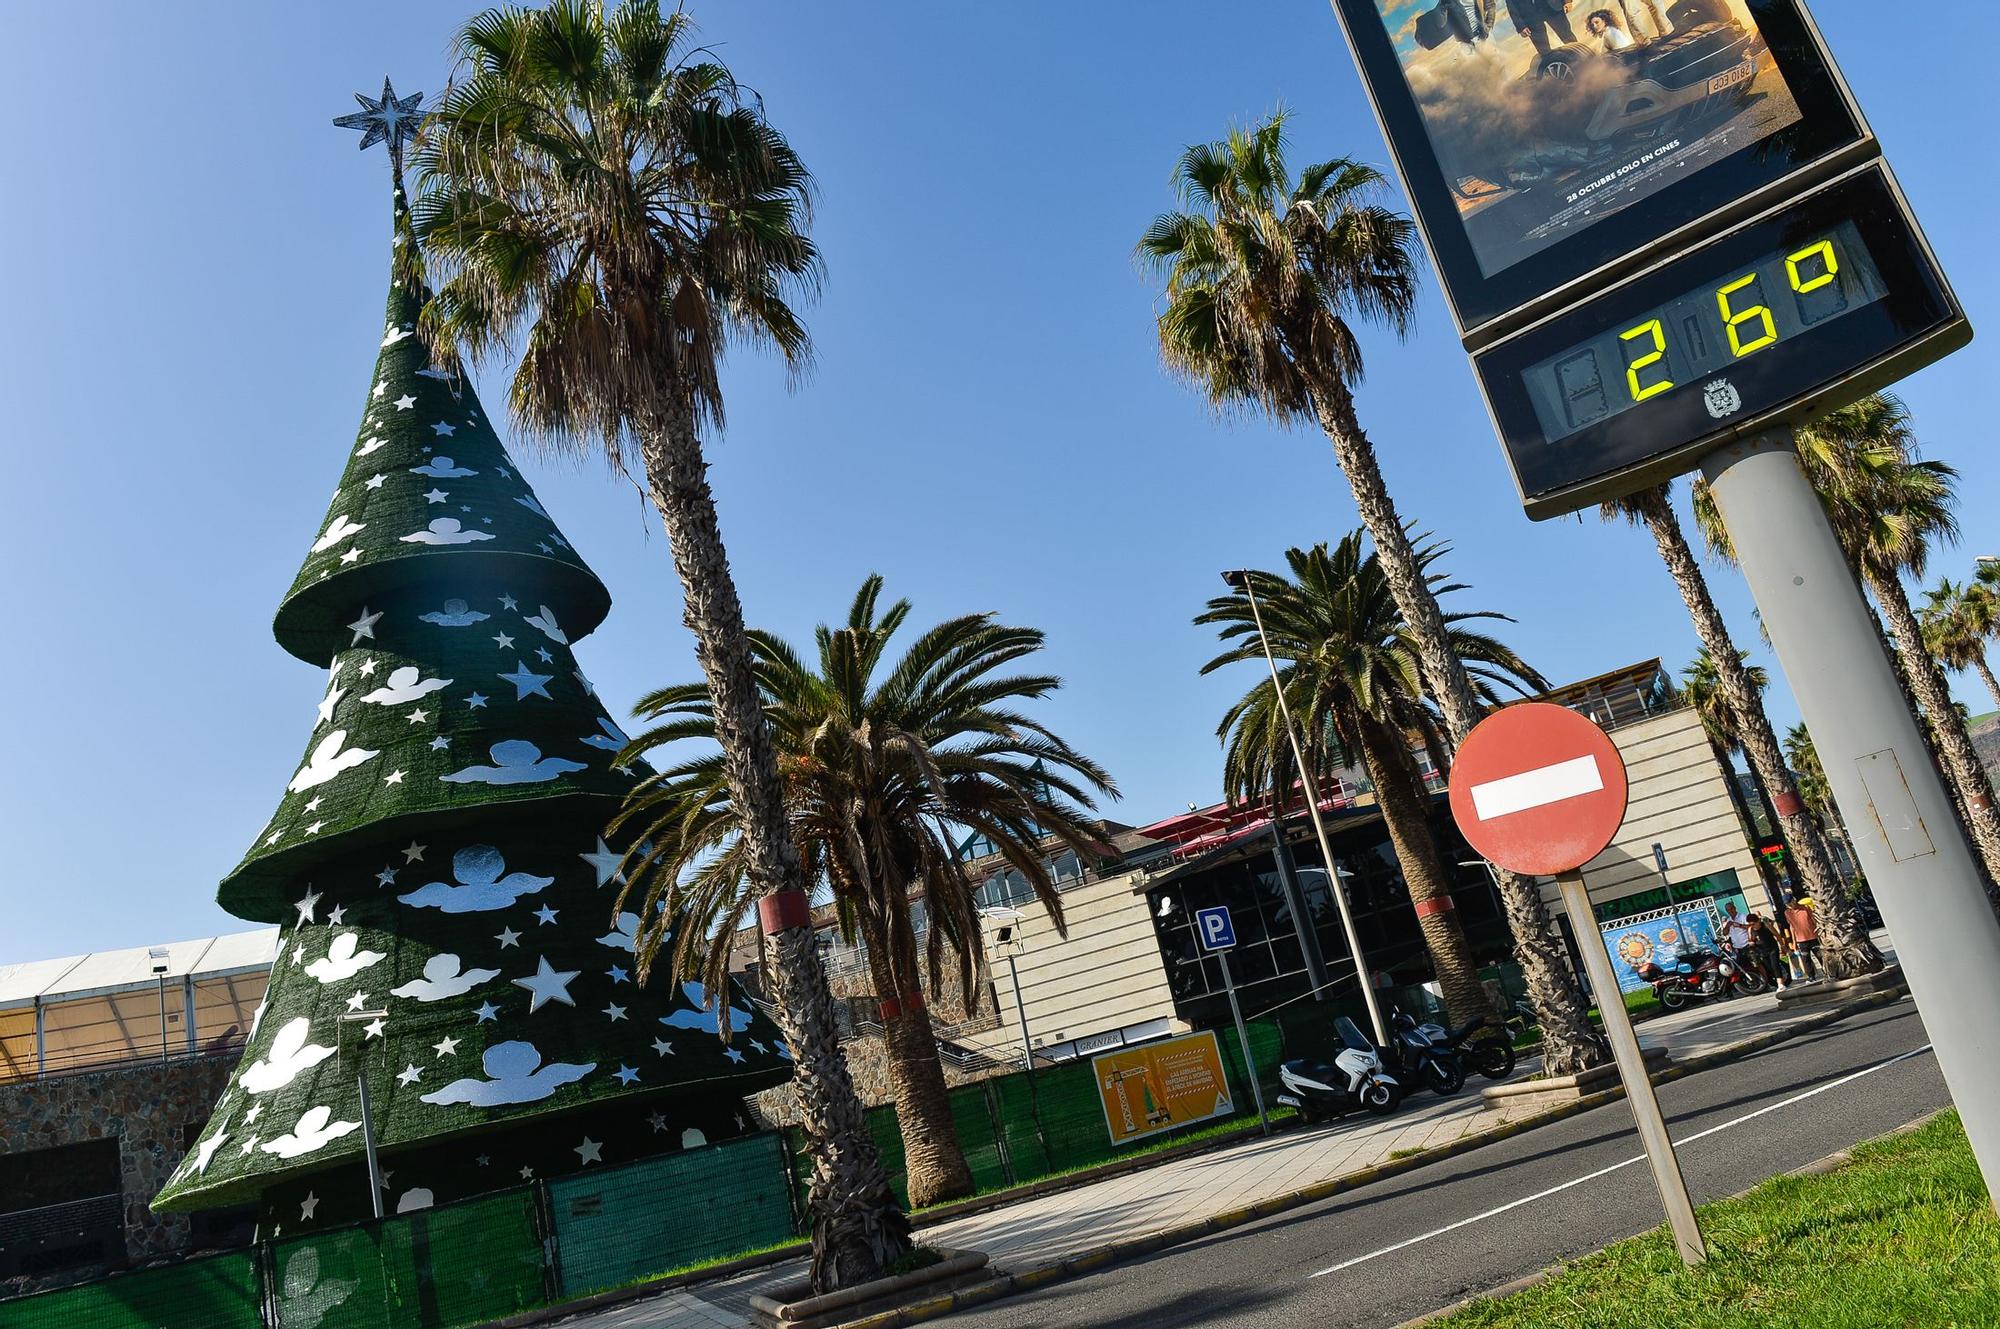
M 882 1173 L 862 1101 L 854 1093 L 826 971 L 804 909 L 804 871 L 792 843 L 778 759 L 764 721 L 742 604 L 722 548 L 708 464 L 686 402 L 638 430 L 646 488 L 674 550 L 694 652 L 714 703 L 716 741 L 730 799 L 742 809 L 750 883 L 768 905 L 772 995 L 792 1049 L 802 1129 L 812 1145 L 812 1287 L 826 1293 L 880 1277 L 910 1249 L 910 1221 Z

